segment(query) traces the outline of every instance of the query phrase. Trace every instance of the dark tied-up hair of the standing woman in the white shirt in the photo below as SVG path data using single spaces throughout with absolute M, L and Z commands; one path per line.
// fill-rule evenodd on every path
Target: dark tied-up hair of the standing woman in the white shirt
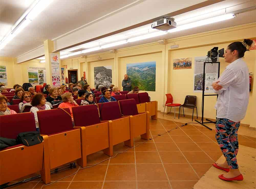
M 248 45 L 250 47 L 252 45 L 253 41 L 250 39 L 244 39 L 242 42 L 236 41 L 233 43 L 230 43 L 227 49 L 231 50 L 233 52 L 234 50 L 238 51 L 238 58 L 242 58 L 244 56 L 244 53 L 246 51 L 249 51 L 244 44 Z

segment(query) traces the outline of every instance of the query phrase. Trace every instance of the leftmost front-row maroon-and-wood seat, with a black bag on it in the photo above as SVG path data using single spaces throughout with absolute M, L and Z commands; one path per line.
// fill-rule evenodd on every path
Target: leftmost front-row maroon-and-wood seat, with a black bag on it
M 20 132 L 36 131 L 33 113 L 0 116 L 0 136 L 16 139 Z M 44 183 L 50 183 L 48 138 L 34 146 L 18 144 L 0 151 L 0 185 L 41 172 Z

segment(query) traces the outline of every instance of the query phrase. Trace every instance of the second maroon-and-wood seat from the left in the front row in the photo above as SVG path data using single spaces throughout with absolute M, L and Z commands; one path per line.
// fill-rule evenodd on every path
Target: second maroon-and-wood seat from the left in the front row
M 63 109 L 70 114 L 69 108 Z M 84 127 L 73 128 L 71 116 L 63 109 L 37 112 L 40 133 L 48 135 L 49 139 L 50 168 L 54 169 L 78 159 L 79 165 L 84 167 L 84 142 L 81 143 L 81 137 L 84 137 L 81 130 Z

